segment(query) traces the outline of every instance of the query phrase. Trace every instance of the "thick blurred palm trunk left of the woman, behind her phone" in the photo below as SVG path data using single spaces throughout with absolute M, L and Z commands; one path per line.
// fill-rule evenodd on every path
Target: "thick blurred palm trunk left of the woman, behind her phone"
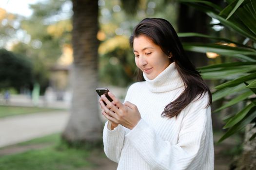
M 73 1 L 71 116 L 62 137 L 69 143 L 101 139 L 98 85 L 98 0 Z

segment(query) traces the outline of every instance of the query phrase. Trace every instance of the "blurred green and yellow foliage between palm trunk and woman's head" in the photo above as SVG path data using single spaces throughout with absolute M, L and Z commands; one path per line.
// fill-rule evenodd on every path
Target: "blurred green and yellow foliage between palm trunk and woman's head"
M 128 86 L 136 81 L 134 54 L 129 47 L 132 29 L 144 17 L 165 16 L 166 19 L 175 23 L 176 3 L 171 1 L 164 3 L 165 0 L 138 0 L 136 1 L 138 5 L 131 4 L 132 1 L 119 0 L 99 0 L 98 2 L 101 14 L 98 32 L 98 40 L 101 42 L 98 49 L 100 82 Z M 127 13 L 121 10 L 125 7 L 128 9 Z

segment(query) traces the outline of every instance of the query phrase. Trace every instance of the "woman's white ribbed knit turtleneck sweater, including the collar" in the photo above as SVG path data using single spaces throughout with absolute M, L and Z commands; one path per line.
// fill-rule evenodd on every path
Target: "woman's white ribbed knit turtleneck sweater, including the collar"
M 211 108 L 206 93 L 177 117 L 161 117 L 184 90 L 175 63 L 155 79 L 131 85 L 125 101 L 137 105 L 141 119 L 132 129 L 103 130 L 104 152 L 118 170 L 214 170 Z

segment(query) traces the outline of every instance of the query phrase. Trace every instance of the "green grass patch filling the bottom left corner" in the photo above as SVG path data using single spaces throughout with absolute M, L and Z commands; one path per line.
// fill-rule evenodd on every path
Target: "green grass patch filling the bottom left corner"
M 49 147 L 0 159 L 0 170 L 78 170 L 88 167 L 89 153 L 76 149 Z

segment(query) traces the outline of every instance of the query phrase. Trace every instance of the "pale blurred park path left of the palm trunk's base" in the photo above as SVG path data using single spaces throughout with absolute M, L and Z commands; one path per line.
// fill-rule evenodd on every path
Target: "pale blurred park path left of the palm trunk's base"
M 0 119 L 0 148 L 63 131 L 68 111 L 53 111 Z

